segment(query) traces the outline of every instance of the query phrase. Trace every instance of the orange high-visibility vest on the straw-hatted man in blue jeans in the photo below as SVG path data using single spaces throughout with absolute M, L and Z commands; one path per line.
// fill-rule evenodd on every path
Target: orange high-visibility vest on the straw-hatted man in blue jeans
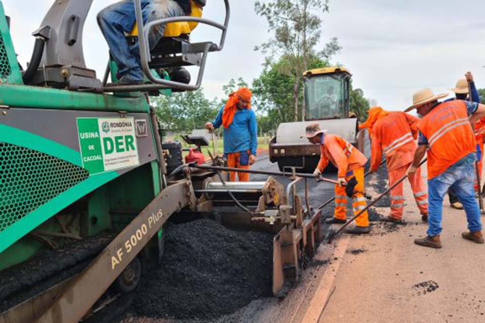
M 428 180 L 476 151 L 475 135 L 462 100 L 435 106 L 419 121 L 418 128 L 428 140 Z

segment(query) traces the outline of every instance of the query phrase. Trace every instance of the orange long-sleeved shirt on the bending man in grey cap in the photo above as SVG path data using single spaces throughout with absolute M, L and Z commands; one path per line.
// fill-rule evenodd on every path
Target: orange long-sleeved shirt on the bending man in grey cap
M 338 169 L 338 177 L 345 177 L 350 171 L 363 167 L 367 158 L 350 142 L 336 135 L 322 135 L 318 169 L 323 172 L 328 162 Z

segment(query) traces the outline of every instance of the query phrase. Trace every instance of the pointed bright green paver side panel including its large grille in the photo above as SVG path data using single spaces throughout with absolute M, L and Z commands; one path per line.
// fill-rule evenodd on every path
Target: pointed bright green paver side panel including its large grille
M 0 124 L 0 252 L 118 176 L 89 176 L 79 152 Z

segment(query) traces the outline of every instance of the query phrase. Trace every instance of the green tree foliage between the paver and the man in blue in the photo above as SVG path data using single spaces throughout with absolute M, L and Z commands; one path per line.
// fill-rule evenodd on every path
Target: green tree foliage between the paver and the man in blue
M 157 117 L 165 129 L 181 133 L 204 128 L 220 109 L 219 102 L 207 99 L 202 88 L 172 96 L 161 95 L 153 99 L 152 105 L 156 107 Z

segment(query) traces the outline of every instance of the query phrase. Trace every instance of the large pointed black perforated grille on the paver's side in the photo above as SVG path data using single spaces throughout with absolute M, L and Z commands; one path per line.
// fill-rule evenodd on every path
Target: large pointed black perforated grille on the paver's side
M 0 142 L 0 233 L 88 177 L 62 159 Z

